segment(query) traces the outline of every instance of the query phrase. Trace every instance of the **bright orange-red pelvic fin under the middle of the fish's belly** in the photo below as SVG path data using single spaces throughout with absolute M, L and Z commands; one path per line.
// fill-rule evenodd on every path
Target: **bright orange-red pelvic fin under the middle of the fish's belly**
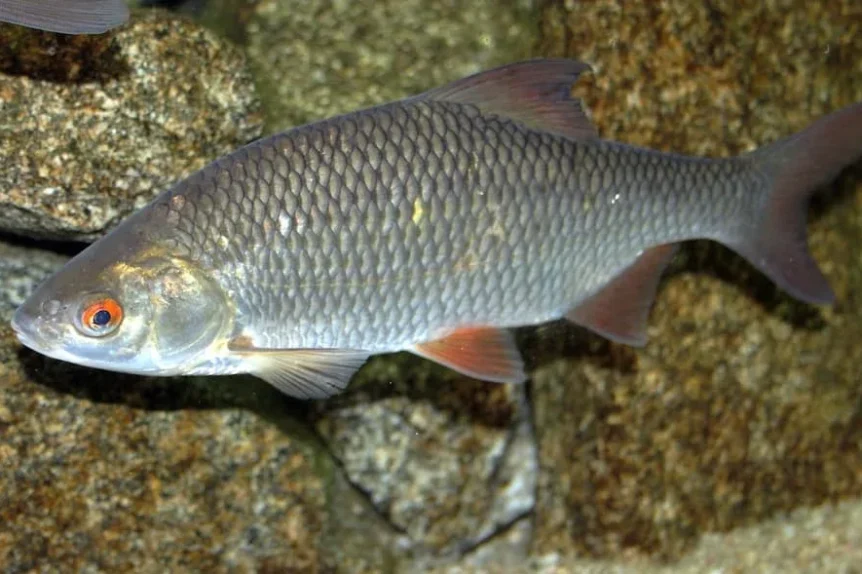
M 443 339 L 411 349 L 468 377 L 496 383 L 522 383 L 524 363 L 512 334 L 493 327 L 458 329 Z

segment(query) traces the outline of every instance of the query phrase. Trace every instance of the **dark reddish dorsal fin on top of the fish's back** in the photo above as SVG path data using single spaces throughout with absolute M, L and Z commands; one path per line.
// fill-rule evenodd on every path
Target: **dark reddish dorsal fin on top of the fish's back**
M 596 139 L 598 132 L 582 102 L 571 94 L 578 77 L 590 70 L 577 60 L 528 60 L 468 76 L 419 97 L 472 104 L 533 129 Z

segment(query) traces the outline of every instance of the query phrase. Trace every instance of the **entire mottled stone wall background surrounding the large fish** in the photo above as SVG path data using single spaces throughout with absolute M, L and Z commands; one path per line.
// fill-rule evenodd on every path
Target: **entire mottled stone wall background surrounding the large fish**
M 0 24 L 3 571 L 862 563 L 858 161 L 809 214 L 834 305 L 687 243 L 644 347 L 564 321 L 518 329 L 524 385 L 399 353 L 298 401 L 253 377 L 49 359 L 9 325 L 84 245 L 208 162 L 508 62 L 589 62 L 575 92 L 603 138 L 752 150 L 862 101 L 858 2 L 141 4 L 105 35 Z

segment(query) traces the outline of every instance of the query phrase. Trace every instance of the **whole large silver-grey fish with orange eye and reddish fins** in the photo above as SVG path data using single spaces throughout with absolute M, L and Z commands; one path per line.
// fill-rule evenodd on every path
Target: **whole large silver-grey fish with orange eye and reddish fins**
M 812 194 L 862 155 L 862 103 L 728 158 L 602 139 L 589 64 L 535 59 L 294 127 L 174 184 L 40 284 L 20 342 L 153 376 L 248 374 L 299 399 L 372 355 L 523 383 L 513 328 L 647 343 L 680 243 L 720 242 L 791 296 L 835 295 Z

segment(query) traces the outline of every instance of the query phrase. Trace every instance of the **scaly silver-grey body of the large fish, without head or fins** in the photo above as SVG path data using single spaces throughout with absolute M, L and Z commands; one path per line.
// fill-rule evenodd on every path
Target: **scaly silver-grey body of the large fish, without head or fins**
M 744 222 L 759 184 L 740 160 L 414 99 L 255 142 L 149 209 L 228 293 L 236 334 L 381 352 L 558 318 L 643 249 Z

